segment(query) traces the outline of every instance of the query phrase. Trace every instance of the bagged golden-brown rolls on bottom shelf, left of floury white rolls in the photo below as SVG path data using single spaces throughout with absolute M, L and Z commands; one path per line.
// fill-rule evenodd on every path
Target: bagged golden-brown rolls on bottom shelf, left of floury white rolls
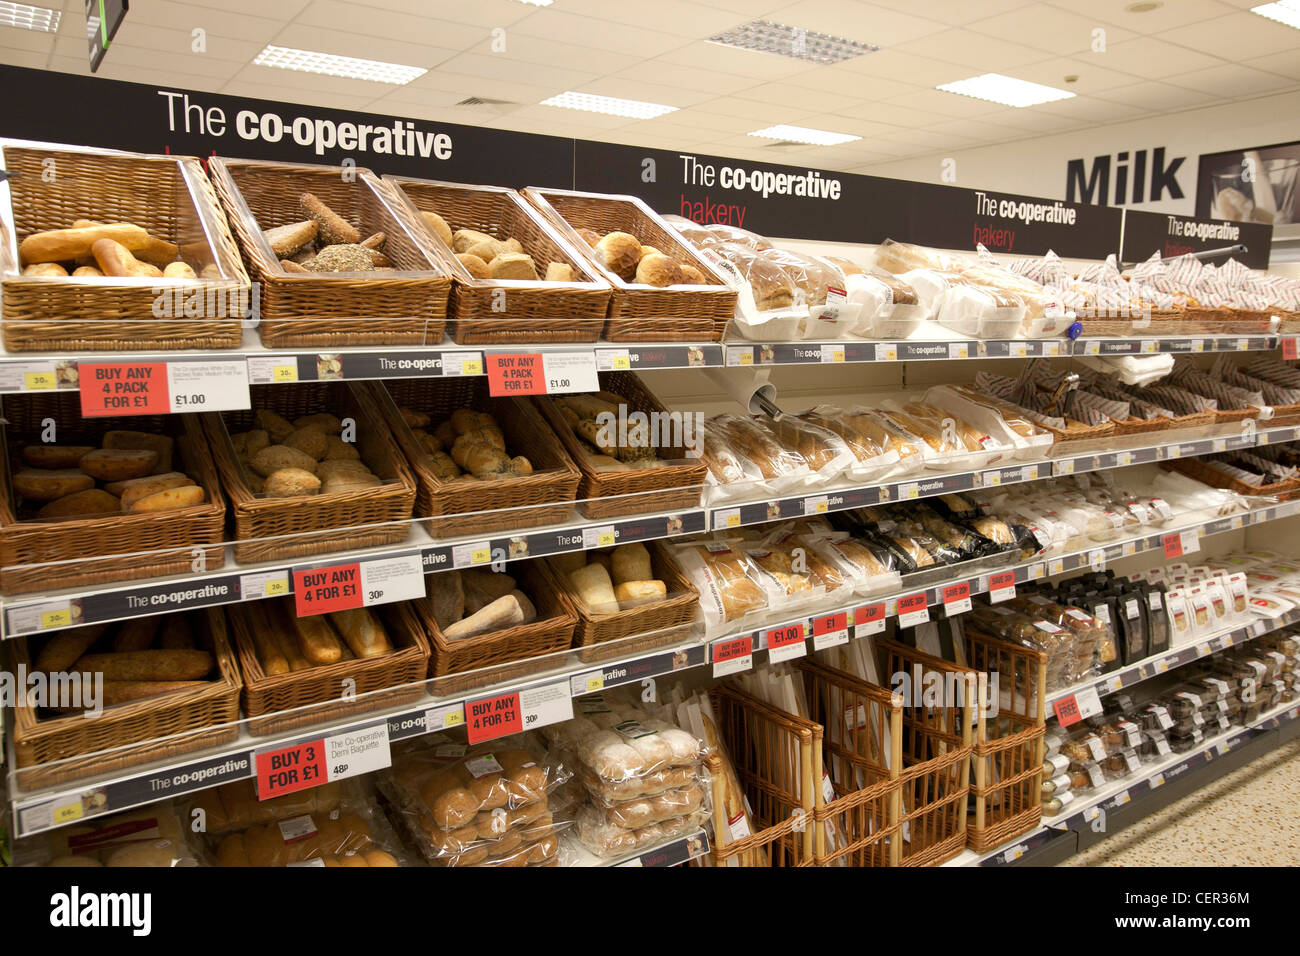
M 467 748 L 436 734 L 394 754 L 380 790 L 434 866 L 554 866 L 550 795 L 571 773 L 533 735 Z

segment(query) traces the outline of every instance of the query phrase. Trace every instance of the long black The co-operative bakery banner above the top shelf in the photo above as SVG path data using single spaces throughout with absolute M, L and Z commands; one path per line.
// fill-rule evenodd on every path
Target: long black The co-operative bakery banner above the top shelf
M 289 163 L 350 160 L 381 174 L 623 193 L 641 196 L 658 212 L 786 238 L 859 243 L 894 238 L 966 251 L 982 243 L 993 252 L 1037 256 L 1054 250 L 1070 259 L 1104 259 L 1119 251 L 1123 212 L 1104 206 L 18 66 L 0 66 L 0 83 L 42 90 L 40 98 L 5 100 L 0 135 L 21 139 Z M 1266 264 L 1268 229 L 1240 228 L 1251 234 L 1249 264 L 1260 263 L 1261 252 Z M 1202 232 L 1197 226 L 1192 234 Z M 1127 258 L 1145 258 L 1160 242 Z

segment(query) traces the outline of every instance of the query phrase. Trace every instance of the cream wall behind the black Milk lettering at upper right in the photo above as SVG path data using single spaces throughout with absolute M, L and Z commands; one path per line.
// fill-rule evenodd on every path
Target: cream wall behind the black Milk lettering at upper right
M 896 179 L 942 182 L 940 164 L 944 159 L 952 157 L 957 160 L 957 182 L 952 185 L 1065 199 L 1066 164 L 1071 159 L 1083 159 L 1086 168 L 1091 169 L 1095 156 L 1108 153 L 1114 157 L 1123 151 L 1131 155 L 1136 150 L 1147 150 L 1149 170 L 1152 151 L 1162 146 L 1166 164 L 1174 156 L 1187 157 L 1176 173 L 1183 199 L 1171 200 L 1166 196 L 1158 203 L 1130 203 L 1128 208 L 1190 216 L 1196 212 L 1196 169 L 1201 153 L 1245 150 L 1296 139 L 1300 139 L 1300 92 L 1290 92 L 1096 126 L 1076 133 L 1022 139 L 1002 146 L 949 150 L 896 163 L 881 163 L 861 172 Z M 1110 182 L 1113 193 L 1114 166 Z M 1130 181 L 1130 195 L 1131 190 Z M 1109 196 L 1108 202 L 1113 199 L 1114 195 Z

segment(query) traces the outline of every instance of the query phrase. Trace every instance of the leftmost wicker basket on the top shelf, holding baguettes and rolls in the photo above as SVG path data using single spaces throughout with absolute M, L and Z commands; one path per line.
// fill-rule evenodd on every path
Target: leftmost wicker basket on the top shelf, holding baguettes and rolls
M 53 165 L 47 165 L 53 164 Z M 9 351 L 235 349 L 248 273 L 198 160 L 0 139 L 4 346 Z M 55 172 L 51 178 L 49 170 Z M 79 219 L 133 222 L 177 243 L 195 272 L 217 277 L 27 278 L 18 243 Z M 202 293 L 203 317 L 157 317 L 160 291 Z M 174 300 L 174 299 L 173 299 Z M 168 299 L 164 299 L 168 302 Z M 182 312 L 183 310 L 177 310 Z

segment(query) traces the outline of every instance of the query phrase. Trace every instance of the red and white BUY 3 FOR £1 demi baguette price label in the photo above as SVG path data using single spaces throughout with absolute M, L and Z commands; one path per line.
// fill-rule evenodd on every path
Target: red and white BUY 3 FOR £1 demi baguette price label
M 391 766 L 387 721 L 256 754 L 257 799 L 270 800 Z

